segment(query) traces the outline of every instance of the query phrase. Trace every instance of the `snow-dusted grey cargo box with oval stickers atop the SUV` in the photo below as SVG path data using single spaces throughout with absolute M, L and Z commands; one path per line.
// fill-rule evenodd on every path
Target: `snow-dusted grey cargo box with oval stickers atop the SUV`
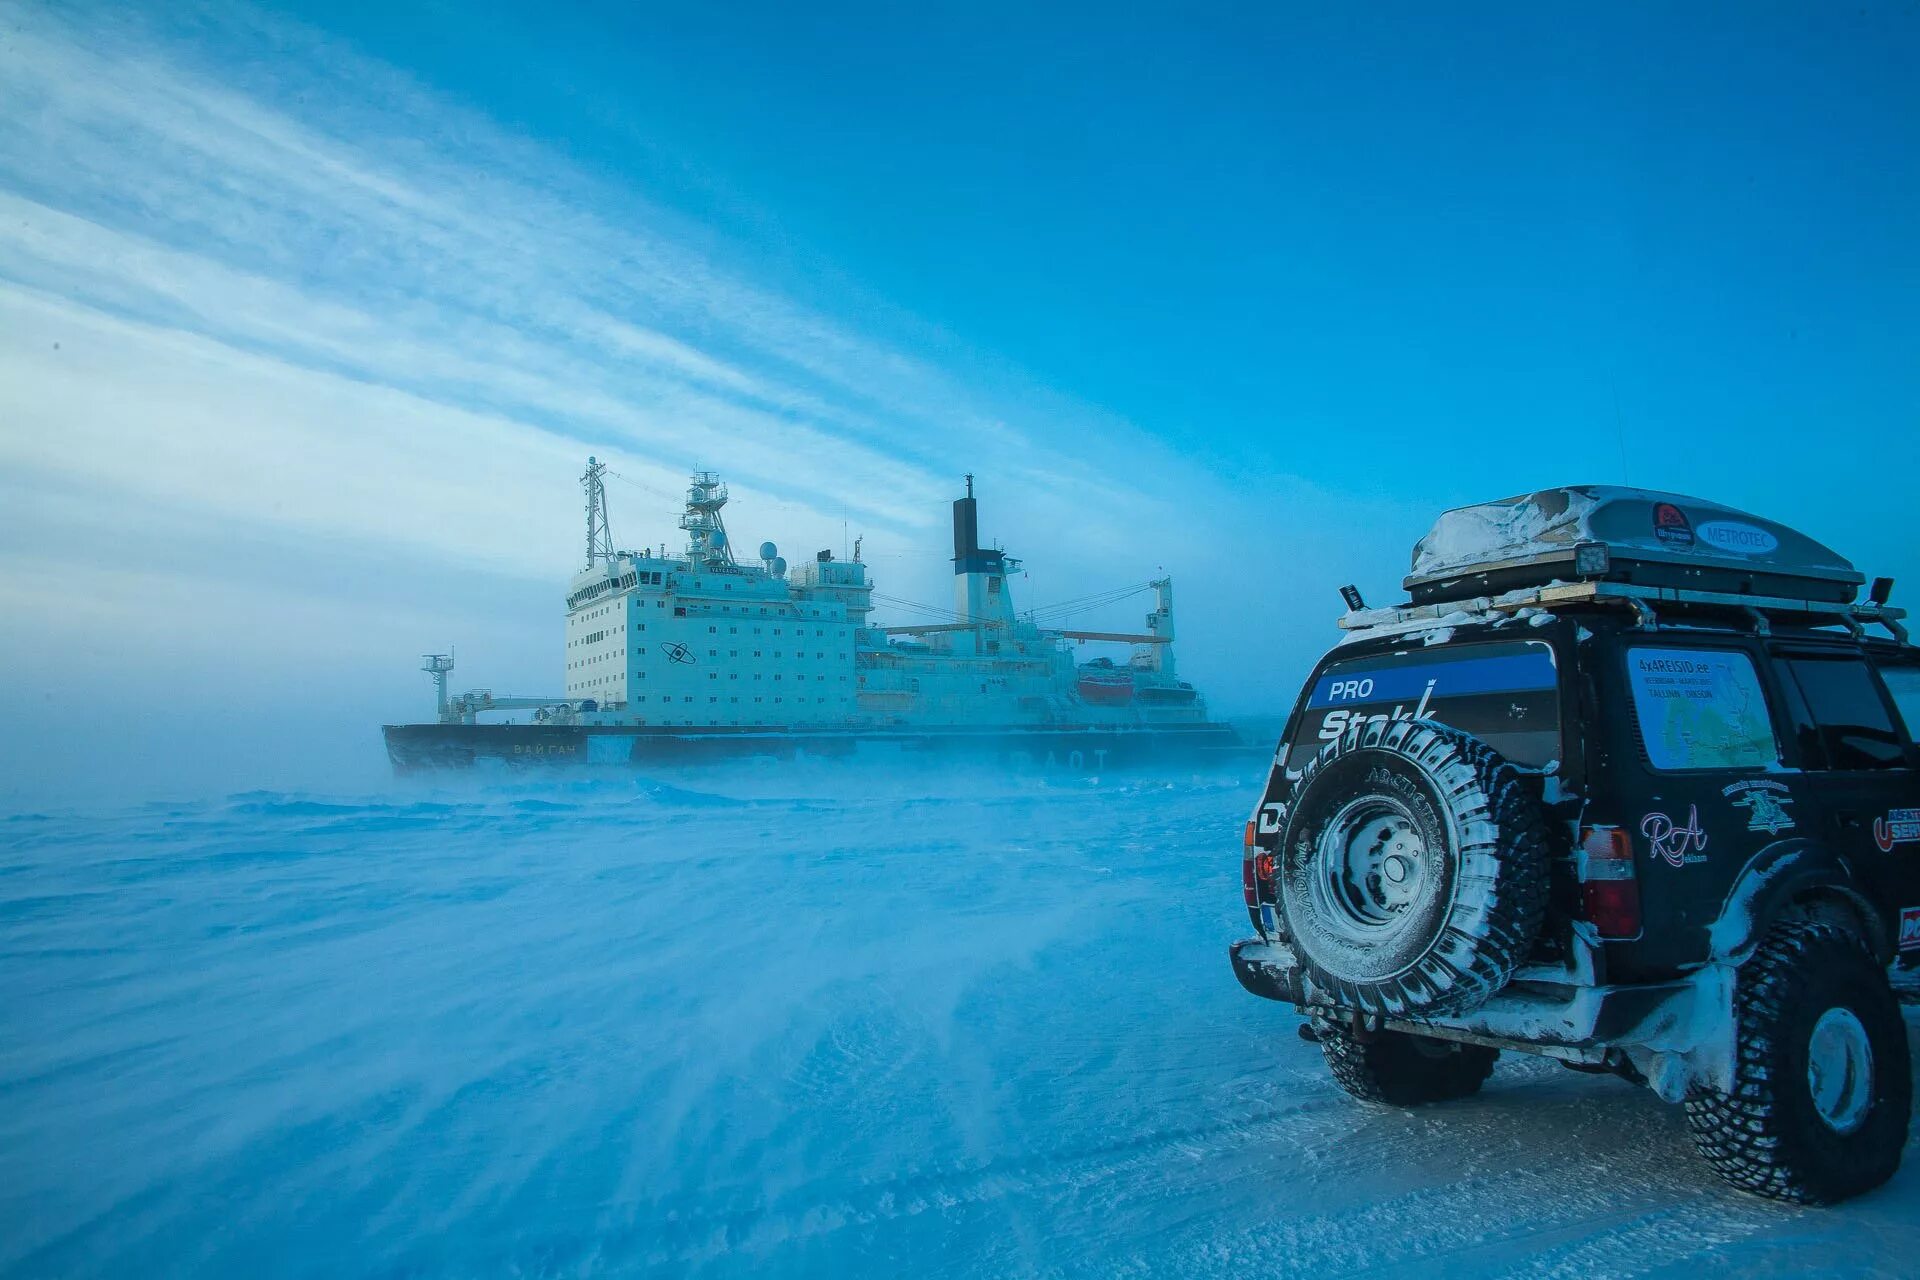
M 1430 604 L 1580 580 L 1834 604 L 1851 603 L 1864 581 L 1839 555 L 1774 520 L 1588 484 L 1442 514 L 1413 545 L 1404 585 L 1415 604 Z

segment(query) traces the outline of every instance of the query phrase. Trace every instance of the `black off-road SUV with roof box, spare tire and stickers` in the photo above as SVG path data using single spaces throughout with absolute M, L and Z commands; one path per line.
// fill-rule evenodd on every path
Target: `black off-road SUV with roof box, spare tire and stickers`
M 1920 651 L 1887 580 L 1678 495 L 1446 512 L 1315 666 L 1246 825 L 1240 983 L 1398 1105 L 1500 1050 L 1686 1105 L 1741 1188 L 1885 1182 L 1912 1102 Z

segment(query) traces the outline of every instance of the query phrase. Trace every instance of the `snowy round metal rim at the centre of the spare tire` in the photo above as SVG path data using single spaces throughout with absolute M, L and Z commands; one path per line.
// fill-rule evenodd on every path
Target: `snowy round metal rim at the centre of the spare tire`
M 1425 898 L 1427 854 L 1405 804 L 1388 796 L 1350 800 L 1313 850 L 1319 917 L 1348 942 L 1379 942 L 1400 931 Z

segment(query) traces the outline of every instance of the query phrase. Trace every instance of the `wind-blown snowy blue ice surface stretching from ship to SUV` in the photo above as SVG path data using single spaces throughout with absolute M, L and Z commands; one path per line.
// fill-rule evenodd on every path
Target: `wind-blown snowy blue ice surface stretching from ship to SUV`
M 0 1272 L 1914 1274 L 1920 1159 L 1807 1211 L 1536 1059 L 1348 1102 L 1227 969 L 1252 773 L 13 814 Z

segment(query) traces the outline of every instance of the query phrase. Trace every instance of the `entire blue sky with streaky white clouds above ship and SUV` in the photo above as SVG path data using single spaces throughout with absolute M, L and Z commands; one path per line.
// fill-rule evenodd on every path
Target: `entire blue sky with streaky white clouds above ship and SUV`
M 1229 708 L 1546 484 L 1920 589 L 1916 56 L 1910 4 L 0 4 L 6 710 L 346 731 L 447 641 L 547 689 L 589 451 L 626 541 L 701 462 L 918 599 L 977 472 L 1029 603 L 1169 568 Z

